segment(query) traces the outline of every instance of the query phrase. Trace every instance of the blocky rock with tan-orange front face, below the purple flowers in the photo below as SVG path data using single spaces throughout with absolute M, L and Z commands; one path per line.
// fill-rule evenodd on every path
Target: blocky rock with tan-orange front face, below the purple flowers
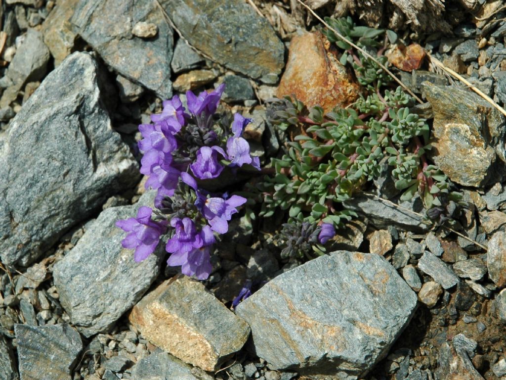
M 129 319 L 151 344 L 206 371 L 240 350 L 249 336 L 246 322 L 188 277 L 160 284 Z

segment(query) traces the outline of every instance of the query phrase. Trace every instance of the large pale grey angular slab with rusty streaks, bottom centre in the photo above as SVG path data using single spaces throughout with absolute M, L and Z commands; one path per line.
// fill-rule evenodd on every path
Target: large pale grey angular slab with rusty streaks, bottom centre
M 416 294 L 383 257 L 336 251 L 268 282 L 237 314 L 270 368 L 361 376 L 388 353 L 415 308 Z

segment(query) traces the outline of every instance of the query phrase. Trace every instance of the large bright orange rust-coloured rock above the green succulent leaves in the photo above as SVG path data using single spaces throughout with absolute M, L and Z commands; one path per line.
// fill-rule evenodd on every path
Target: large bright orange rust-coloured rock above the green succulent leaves
M 328 112 L 353 103 L 359 92 L 352 75 L 320 32 L 293 37 L 277 90 L 279 98 L 294 94 L 308 107 L 320 105 Z

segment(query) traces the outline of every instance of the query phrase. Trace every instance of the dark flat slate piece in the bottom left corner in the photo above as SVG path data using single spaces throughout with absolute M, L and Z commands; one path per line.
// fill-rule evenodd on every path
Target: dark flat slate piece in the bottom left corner
M 82 341 L 67 324 L 14 326 L 21 380 L 70 380 Z

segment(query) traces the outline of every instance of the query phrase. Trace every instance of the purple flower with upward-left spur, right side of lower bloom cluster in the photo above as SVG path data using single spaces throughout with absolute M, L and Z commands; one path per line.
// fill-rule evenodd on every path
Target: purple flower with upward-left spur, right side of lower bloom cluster
M 246 203 L 246 198 L 238 195 L 225 199 L 219 197 L 207 198 L 197 189 L 197 181 L 188 173 L 181 173 L 181 179 L 197 193 L 195 205 L 202 212 L 209 222 L 211 230 L 219 234 L 225 234 L 228 231 L 228 221 L 232 215 L 237 212 L 237 207 Z

